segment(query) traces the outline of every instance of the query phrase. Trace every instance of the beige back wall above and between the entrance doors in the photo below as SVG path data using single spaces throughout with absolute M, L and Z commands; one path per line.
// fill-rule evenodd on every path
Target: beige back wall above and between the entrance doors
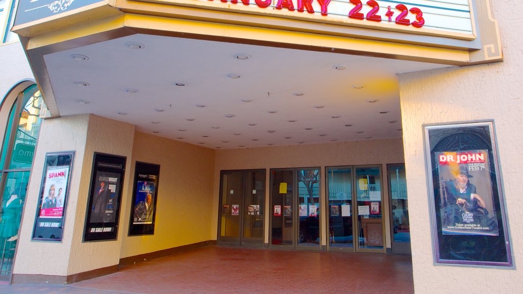
M 226 169 L 267 169 L 266 211 L 269 214 L 269 169 L 282 167 L 320 167 L 321 169 L 321 202 L 325 207 L 325 166 L 338 165 L 382 165 L 384 206 L 388 208 L 388 181 L 386 164 L 403 163 L 403 146 L 401 139 L 371 140 L 361 142 L 344 142 L 316 145 L 298 145 L 267 147 L 253 149 L 220 150 L 216 152 L 214 167 L 214 193 L 212 211 L 213 239 L 217 238 L 218 203 L 220 196 L 220 171 Z M 390 247 L 389 211 L 384 211 L 386 244 Z M 321 224 L 325 225 L 325 213 L 321 214 Z M 269 218 L 265 219 L 265 243 L 269 242 Z M 325 238 L 322 245 L 326 245 Z

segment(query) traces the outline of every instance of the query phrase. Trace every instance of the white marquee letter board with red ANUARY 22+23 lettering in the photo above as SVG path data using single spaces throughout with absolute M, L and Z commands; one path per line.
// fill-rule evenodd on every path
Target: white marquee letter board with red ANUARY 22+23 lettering
M 472 0 L 140 0 L 475 39 Z

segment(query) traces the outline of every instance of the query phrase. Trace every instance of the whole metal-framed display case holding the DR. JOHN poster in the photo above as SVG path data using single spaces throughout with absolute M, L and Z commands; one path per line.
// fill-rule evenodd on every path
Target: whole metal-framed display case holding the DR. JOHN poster
M 493 122 L 424 130 L 435 263 L 513 267 Z

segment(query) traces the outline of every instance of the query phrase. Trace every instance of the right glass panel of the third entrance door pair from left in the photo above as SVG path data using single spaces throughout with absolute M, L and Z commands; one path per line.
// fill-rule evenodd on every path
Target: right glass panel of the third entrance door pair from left
M 384 252 L 381 168 L 356 167 L 357 251 Z

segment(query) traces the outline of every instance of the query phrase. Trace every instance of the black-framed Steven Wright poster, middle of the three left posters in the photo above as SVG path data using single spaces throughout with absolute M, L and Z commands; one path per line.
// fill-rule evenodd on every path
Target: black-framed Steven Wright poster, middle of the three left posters
M 84 241 L 116 240 L 126 157 L 94 153 Z

